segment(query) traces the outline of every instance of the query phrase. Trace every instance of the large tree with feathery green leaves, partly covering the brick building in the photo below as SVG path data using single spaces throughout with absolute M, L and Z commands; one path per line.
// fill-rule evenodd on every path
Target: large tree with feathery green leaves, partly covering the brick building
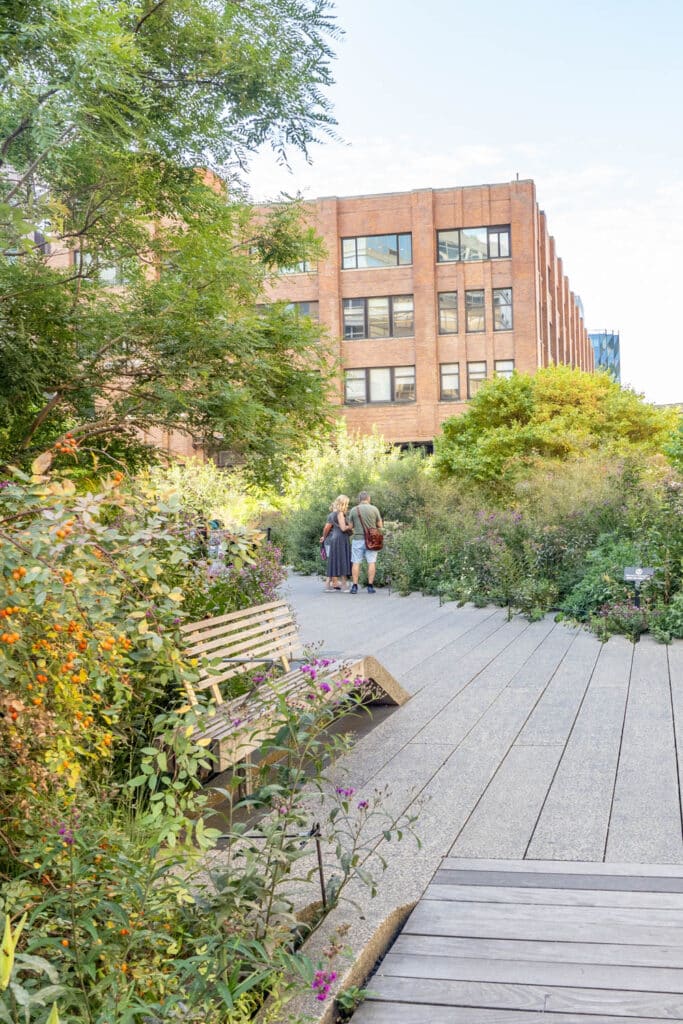
M 333 124 L 327 0 L 9 0 L 0 30 L 0 460 L 183 429 L 260 476 L 319 431 L 315 328 L 258 309 L 319 254 L 250 154 Z M 113 282 L 122 287 L 112 287 Z M 69 446 L 69 445 L 67 445 Z

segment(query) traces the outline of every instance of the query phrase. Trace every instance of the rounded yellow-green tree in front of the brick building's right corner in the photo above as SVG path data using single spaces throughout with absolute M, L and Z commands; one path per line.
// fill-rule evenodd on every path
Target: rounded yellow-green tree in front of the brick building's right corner
M 677 421 L 675 410 L 648 404 L 606 373 L 548 367 L 486 383 L 443 424 L 434 464 L 444 476 L 505 489 L 539 458 L 663 452 Z

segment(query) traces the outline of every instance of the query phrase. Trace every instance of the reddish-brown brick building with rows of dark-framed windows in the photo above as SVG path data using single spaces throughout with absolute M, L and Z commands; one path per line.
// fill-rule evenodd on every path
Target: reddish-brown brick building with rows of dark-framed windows
M 319 199 L 328 256 L 270 298 L 327 329 L 352 430 L 429 442 L 482 380 L 550 362 L 593 370 L 532 181 Z

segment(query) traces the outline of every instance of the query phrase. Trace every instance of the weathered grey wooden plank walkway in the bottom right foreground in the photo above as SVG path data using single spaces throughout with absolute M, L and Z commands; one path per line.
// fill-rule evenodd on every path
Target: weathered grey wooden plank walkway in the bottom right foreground
M 683 1022 L 683 866 L 445 858 L 353 1024 Z

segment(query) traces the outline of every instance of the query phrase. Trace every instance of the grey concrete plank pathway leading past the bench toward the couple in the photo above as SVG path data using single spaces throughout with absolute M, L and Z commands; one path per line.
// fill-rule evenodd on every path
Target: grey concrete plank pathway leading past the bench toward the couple
M 601 644 L 550 615 L 528 623 L 419 595 L 325 594 L 312 578 L 292 577 L 287 597 L 304 641 L 373 654 L 413 694 L 335 767 L 358 797 L 387 787 L 392 811 L 418 814 L 421 839 L 418 850 L 411 841 L 392 844 L 377 897 L 354 884 L 347 893 L 361 910 L 336 908 L 307 943 L 315 958 L 348 926 L 353 962 L 340 987 L 362 984 L 416 904 L 422 912 L 435 872 L 458 861 L 564 861 L 577 870 L 585 869 L 579 862 L 605 862 L 603 870 L 617 873 L 624 863 L 683 864 L 683 642 Z M 408 990 L 418 984 L 407 982 Z M 457 1016 L 450 998 L 433 1017 L 423 1005 L 395 1019 L 513 1024 L 499 1018 L 500 1002 Z M 395 1010 L 383 1001 L 366 1004 L 357 1020 L 393 1019 L 382 1016 Z M 423 1004 L 430 1001 L 428 1014 L 440 999 Z M 536 1020 L 527 1012 L 538 1005 L 516 1005 L 514 1022 Z M 293 1009 L 319 1017 L 312 998 Z M 586 1021 L 609 1019 L 604 1009 Z M 661 1015 L 683 1019 L 669 1005 Z M 571 1013 L 561 1019 L 577 1022 Z

